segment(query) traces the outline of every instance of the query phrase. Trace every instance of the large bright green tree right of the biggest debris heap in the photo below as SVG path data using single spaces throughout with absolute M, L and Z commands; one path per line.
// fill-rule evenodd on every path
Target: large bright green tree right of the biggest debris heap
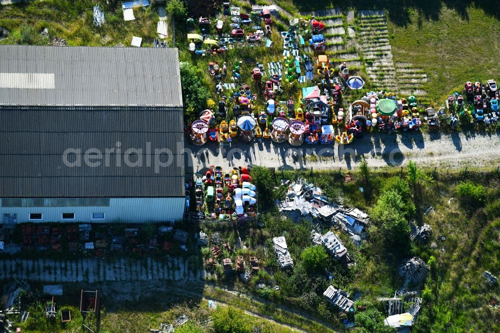
M 414 206 L 411 207 L 403 202 L 398 192 L 391 189 L 380 195 L 371 209 L 371 218 L 386 242 L 402 244 L 408 238 L 407 218 L 413 216 L 414 209 Z

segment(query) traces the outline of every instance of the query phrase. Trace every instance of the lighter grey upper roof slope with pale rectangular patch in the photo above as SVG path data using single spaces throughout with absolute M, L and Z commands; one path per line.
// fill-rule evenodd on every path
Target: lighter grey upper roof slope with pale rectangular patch
M 0 105 L 182 106 L 176 48 L 0 45 Z

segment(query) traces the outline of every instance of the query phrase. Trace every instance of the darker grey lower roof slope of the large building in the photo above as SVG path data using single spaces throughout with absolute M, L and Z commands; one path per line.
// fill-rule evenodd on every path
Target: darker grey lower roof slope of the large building
M 0 197 L 184 196 L 180 107 L 0 106 L 0 142 Z M 120 153 L 109 150 L 106 161 L 116 142 Z M 64 163 L 68 148 L 80 149 L 80 166 Z M 99 166 L 84 162 L 89 148 L 103 154 Z M 129 148 L 141 149 L 142 166 L 126 165 Z M 155 169 L 155 149 L 163 148 L 172 163 Z

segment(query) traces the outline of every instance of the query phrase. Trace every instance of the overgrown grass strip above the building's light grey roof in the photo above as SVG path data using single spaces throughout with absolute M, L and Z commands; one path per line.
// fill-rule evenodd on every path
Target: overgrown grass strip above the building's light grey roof
M 93 25 L 92 8 L 100 3 L 106 22 Z M 154 7 L 134 8 L 135 20 L 124 21 L 121 5 L 111 7 L 96 0 L 34 0 L 5 5 L 0 10 L 0 26 L 9 30 L 2 44 L 19 43 L 21 25 L 32 26 L 34 34 L 44 27 L 49 35 L 66 39 L 68 45 L 113 46 L 118 42 L 129 46 L 132 35 L 142 37 L 142 46 L 151 46 L 156 36 L 158 14 Z M 37 43 L 48 44 L 48 38 Z

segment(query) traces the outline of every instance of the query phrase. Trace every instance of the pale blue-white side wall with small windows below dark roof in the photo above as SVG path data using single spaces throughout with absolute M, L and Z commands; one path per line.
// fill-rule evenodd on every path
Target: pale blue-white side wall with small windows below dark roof
M 1 199 L 3 201 L 5 199 Z M 0 203 L 1 217 L 4 214 L 16 214 L 17 223 L 24 222 L 63 222 L 63 223 L 144 223 L 163 222 L 183 218 L 185 197 L 141 197 L 141 198 L 109 198 L 101 200 L 101 205 L 74 205 L 74 199 L 61 201 L 58 206 L 26 205 L 29 198 L 22 199 L 22 204 L 3 206 Z M 24 201 L 26 200 L 26 201 Z M 52 203 L 52 199 L 46 199 Z M 6 201 L 7 202 L 7 201 Z M 66 204 L 67 202 L 67 204 Z M 106 204 L 108 203 L 108 204 Z M 41 220 L 30 220 L 30 213 L 42 213 Z M 62 219 L 62 213 L 74 213 L 74 219 Z M 104 213 L 104 219 L 92 219 L 92 213 Z M 3 223 L 3 218 L 0 219 Z

